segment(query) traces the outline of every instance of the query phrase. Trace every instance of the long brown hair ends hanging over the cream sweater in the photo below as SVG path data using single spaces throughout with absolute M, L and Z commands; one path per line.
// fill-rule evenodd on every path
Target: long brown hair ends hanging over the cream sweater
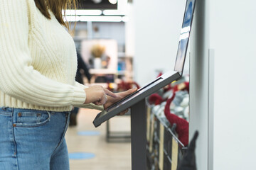
M 62 11 L 67 9 L 76 9 L 76 0 L 34 0 L 36 7 L 41 11 L 43 16 L 50 19 L 50 13 L 48 10 L 52 11 L 55 18 L 60 24 L 69 28 L 68 22 L 65 23 L 63 20 Z

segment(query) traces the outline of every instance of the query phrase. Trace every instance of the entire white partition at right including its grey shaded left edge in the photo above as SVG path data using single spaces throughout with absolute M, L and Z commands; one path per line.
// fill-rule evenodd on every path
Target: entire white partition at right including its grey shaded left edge
M 191 43 L 190 135 L 199 128 L 198 170 L 256 169 L 256 1 L 198 0 L 196 6 Z M 204 25 L 198 21 L 204 21 Z M 210 56 L 214 57 L 213 70 L 208 65 L 213 64 L 208 60 L 209 50 L 214 53 Z M 209 102 L 211 98 L 213 103 Z M 210 147 L 213 152 L 209 152 Z

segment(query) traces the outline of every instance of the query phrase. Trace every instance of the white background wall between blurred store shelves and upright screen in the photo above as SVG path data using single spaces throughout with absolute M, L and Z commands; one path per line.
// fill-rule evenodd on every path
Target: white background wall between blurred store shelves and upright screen
M 134 79 L 141 86 L 156 70 L 173 70 L 185 0 L 134 0 Z M 188 60 L 186 60 L 188 62 Z

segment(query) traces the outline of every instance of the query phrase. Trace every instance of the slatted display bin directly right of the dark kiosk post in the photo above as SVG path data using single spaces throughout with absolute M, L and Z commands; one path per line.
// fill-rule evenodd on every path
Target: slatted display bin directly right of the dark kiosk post
M 146 113 L 148 169 L 175 169 L 180 164 L 188 148 L 178 140 L 175 128 L 170 125 L 166 117 L 154 112 L 153 105 L 146 103 L 146 106 L 148 108 Z M 176 143 L 175 145 L 174 142 Z

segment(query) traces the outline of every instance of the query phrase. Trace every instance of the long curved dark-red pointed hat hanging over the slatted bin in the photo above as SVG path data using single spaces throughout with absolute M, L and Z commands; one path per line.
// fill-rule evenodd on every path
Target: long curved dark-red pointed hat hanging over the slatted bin
M 169 123 L 173 125 L 174 123 L 176 124 L 176 132 L 178 133 L 178 140 L 183 143 L 184 146 L 188 145 L 188 122 L 184 120 L 183 118 L 179 118 L 177 115 L 174 115 L 170 111 L 170 105 L 171 101 L 174 100 L 175 93 L 174 95 L 169 98 L 166 101 L 166 106 L 164 108 L 164 115 L 166 115 L 167 120 L 169 120 Z

